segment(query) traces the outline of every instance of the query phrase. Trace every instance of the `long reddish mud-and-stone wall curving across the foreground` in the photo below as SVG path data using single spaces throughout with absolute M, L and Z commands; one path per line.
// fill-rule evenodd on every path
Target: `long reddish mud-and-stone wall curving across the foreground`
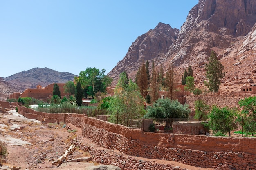
M 22 106 L 19 113 L 31 112 Z M 36 112 L 34 112 L 36 114 Z M 51 114 L 61 119 L 61 114 Z M 107 149 L 131 156 L 164 159 L 216 169 L 255 169 L 256 139 L 143 132 L 81 114 L 64 114 L 64 122 L 83 130 L 83 136 Z

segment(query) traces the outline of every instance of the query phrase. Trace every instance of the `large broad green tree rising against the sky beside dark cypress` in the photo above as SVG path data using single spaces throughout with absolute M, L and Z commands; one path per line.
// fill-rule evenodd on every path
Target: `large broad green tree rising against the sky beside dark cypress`
M 88 95 L 94 97 L 97 92 L 105 92 L 106 87 L 111 85 L 112 78 L 105 74 L 105 69 L 99 71 L 97 68 L 86 68 L 75 77 L 76 83 L 80 81 L 82 88 L 86 89 Z

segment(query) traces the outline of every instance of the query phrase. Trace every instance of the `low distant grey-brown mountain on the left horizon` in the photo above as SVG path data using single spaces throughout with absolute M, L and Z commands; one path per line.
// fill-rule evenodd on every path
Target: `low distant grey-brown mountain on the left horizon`
M 33 68 L 16 73 L 6 78 L 0 77 L 0 96 L 7 98 L 10 93 L 23 92 L 27 88 L 36 88 L 38 84 L 45 87 L 52 83 L 66 83 L 77 75 L 58 72 L 47 67 Z

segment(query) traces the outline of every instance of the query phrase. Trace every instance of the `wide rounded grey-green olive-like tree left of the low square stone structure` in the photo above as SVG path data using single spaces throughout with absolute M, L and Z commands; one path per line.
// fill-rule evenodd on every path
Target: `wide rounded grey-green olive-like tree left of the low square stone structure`
M 153 106 L 147 107 L 144 118 L 155 118 L 160 123 L 165 122 L 166 128 L 170 128 L 175 120 L 187 120 L 190 112 L 189 105 L 182 105 L 178 100 L 158 99 Z

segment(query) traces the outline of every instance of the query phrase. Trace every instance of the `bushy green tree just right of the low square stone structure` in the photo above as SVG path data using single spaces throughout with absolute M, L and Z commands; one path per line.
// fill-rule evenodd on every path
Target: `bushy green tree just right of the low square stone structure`
M 218 108 L 217 106 L 213 106 L 209 114 L 209 127 L 214 133 L 228 133 L 230 136 L 230 131 L 237 128 L 235 121 L 236 115 L 236 109 L 230 109 L 227 107 Z

